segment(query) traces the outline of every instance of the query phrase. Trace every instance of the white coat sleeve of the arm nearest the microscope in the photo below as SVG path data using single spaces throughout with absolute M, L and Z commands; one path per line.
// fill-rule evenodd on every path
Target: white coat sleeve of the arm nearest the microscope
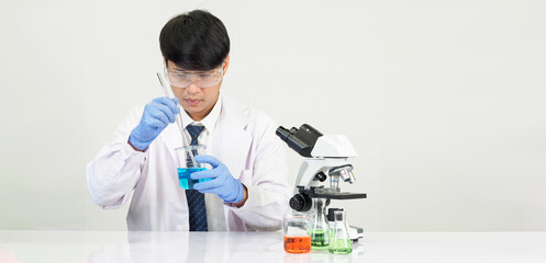
M 255 158 L 253 170 L 244 171 L 252 176 L 252 184 L 245 180 L 248 190 L 246 203 L 237 208 L 229 206 L 246 226 L 257 231 L 281 229 L 282 218 L 288 210 L 289 187 L 287 185 L 288 165 L 286 146 L 277 138 L 277 125 L 270 121 L 267 128 L 254 144 Z

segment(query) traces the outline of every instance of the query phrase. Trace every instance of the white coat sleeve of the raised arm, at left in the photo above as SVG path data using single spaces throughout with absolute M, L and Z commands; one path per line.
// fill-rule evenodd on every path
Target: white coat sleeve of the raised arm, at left
M 135 108 L 105 145 L 87 164 L 87 187 L 91 199 L 104 209 L 119 208 L 130 197 L 146 161 L 146 152 L 135 151 L 129 144 L 131 130 L 138 124 L 142 111 Z

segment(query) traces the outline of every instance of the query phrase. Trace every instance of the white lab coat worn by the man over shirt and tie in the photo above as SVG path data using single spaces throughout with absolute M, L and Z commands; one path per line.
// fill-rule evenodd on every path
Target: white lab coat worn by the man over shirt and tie
M 264 113 L 242 107 L 225 95 L 216 123 L 212 156 L 223 162 L 248 188 L 248 199 L 237 208 L 224 203 L 227 230 L 278 230 L 288 209 L 286 149 L 275 135 L 277 125 Z M 127 214 L 129 230 L 188 230 L 188 205 L 178 183 L 176 153 L 180 132 L 169 125 L 138 152 L 127 144 L 143 108 L 133 111 L 87 165 L 92 201 L 104 209 L 122 206 L 134 191 Z

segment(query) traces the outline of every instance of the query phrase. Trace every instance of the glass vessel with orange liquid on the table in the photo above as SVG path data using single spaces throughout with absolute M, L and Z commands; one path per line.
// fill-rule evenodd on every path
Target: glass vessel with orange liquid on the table
M 311 227 L 311 218 L 303 213 L 293 211 L 285 215 L 282 233 L 285 239 L 285 251 L 292 254 L 303 254 L 311 251 L 311 236 L 308 229 Z

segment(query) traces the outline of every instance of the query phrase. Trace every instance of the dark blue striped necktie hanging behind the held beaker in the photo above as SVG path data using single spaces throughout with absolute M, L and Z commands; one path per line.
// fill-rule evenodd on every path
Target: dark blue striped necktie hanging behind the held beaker
M 203 128 L 204 126 L 194 126 L 194 125 L 188 125 L 186 127 L 186 129 L 190 133 L 191 136 L 190 145 L 197 145 L 197 138 L 199 137 L 201 132 L 203 132 Z M 189 155 L 187 159 L 188 158 Z M 209 226 L 207 225 L 207 208 L 204 206 L 204 194 L 200 193 L 197 190 L 186 190 L 186 199 L 188 199 L 190 231 L 209 231 Z

